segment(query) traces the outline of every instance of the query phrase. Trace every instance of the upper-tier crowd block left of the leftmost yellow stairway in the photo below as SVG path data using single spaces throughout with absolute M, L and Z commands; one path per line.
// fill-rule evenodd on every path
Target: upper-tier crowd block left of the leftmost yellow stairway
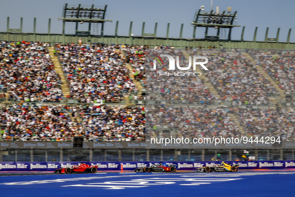
M 0 43 L 0 86 L 18 101 L 59 101 L 60 76 L 42 42 Z

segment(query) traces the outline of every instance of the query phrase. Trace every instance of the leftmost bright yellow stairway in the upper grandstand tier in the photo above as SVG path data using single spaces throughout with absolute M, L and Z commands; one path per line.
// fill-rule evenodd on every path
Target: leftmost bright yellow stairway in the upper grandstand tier
M 54 46 L 50 46 L 48 47 L 48 51 L 50 54 L 50 58 L 54 64 L 54 69 L 55 71 L 59 74 L 60 76 L 60 80 L 61 80 L 61 91 L 64 97 L 68 97 L 70 96 L 70 89 L 68 87 L 68 84 L 66 82 L 66 78 L 65 75 L 62 71 L 62 67 L 60 65 L 59 59 L 58 57 L 53 53 L 54 50 Z

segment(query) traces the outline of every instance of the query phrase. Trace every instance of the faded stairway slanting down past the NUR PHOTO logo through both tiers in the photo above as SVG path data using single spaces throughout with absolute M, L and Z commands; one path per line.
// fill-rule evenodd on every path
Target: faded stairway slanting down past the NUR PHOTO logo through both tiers
M 182 50 L 183 55 L 185 56 L 185 59 L 188 61 L 189 60 L 189 54 L 187 51 Z M 196 72 L 201 72 L 202 75 L 198 76 L 201 79 L 204 80 L 204 85 L 206 87 L 208 87 L 210 93 L 214 94 L 218 99 L 220 99 L 220 95 L 218 94 L 217 90 L 215 89 L 215 87 L 210 83 L 209 79 L 206 78 L 205 74 L 203 74 L 203 70 L 200 69 L 200 67 L 196 66 Z M 240 121 L 238 119 L 238 117 L 234 114 L 234 113 L 228 113 L 228 115 L 231 117 L 231 119 L 234 121 L 234 123 L 238 126 L 239 130 L 241 130 L 241 133 L 244 134 L 244 127 L 242 125 L 240 125 Z

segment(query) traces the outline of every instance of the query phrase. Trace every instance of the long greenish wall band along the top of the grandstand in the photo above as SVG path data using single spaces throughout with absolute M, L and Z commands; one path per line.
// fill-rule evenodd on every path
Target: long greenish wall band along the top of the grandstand
M 225 48 L 255 48 L 255 49 L 295 49 L 294 42 L 274 42 L 274 41 L 250 41 L 250 40 L 205 40 L 193 38 L 166 38 L 166 37 L 147 37 L 147 36 L 115 36 L 115 35 L 75 35 L 75 34 L 56 34 L 56 33 L 13 33 L 0 32 L 0 40 L 14 41 L 43 41 L 51 43 L 77 43 L 82 38 L 83 42 L 103 42 L 107 44 L 136 44 L 175 46 L 177 48 L 199 47 L 208 48 L 211 46 Z

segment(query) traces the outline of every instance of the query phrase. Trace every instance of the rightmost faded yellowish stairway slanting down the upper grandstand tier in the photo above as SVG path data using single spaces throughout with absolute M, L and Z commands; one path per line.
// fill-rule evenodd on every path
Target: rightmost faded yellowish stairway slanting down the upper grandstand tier
M 274 79 L 273 79 L 273 78 L 272 78 L 272 77 L 271 77 L 271 76 L 270 76 L 270 75 L 264 70 L 264 68 L 263 68 L 261 65 L 259 65 L 259 64 L 253 59 L 253 57 L 252 57 L 250 54 L 244 52 L 243 55 L 245 55 L 245 56 L 247 57 L 247 59 L 249 59 L 253 65 L 256 65 L 256 68 L 258 69 L 258 71 L 259 71 L 259 72 L 260 72 L 265 78 L 267 78 L 267 79 L 272 83 L 272 85 L 276 88 L 277 92 L 280 93 L 280 95 L 277 95 L 277 96 L 274 96 L 274 97 L 269 97 L 269 99 L 270 99 L 274 104 L 276 104 L 276 103 L 280 103 L 281 100 L 284 100 L 285 97 L 286 97 L 285 92 L 284 92 L 283 89 L 281 89 L 281 88 L 279 87 L 279 85 L 277 84 L 277 81 L 275 81 L 275 80 L 274 80 Z

